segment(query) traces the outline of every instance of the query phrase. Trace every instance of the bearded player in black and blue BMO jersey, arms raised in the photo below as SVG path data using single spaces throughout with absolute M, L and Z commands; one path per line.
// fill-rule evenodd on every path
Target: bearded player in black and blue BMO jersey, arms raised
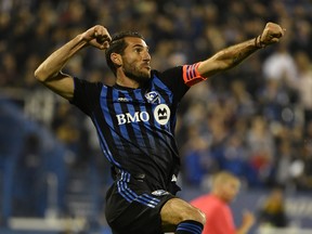
M 224 49 L 206 61 L 157 72 L 143 37 L 110 38 L 96 25 L 53 52 L 35 72 L 49 89 L 92 119 L 112 164 L 114 183 L 105 214 L 114 234 L 199 234 L 205 214 L 176 197 L 180 159 L 174 141 L 177 107 L 193 84 L 239 64 L 275 43 L 283 29 L 268 23 L 260 36 Z M 92 46 L 106 53 L 116 84 L 89 82 L 61 72 L 69 58 Z

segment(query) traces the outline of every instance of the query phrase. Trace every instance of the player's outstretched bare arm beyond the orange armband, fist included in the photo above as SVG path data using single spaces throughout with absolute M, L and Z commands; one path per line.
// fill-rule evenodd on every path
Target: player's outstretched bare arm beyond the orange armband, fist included
M 258 37 L 221 50 L 213 56 L 202 62 L 198 66 L 198 73 L 203 77 L 210 77 L 219 72 L 230 69 L 257 50 L 278 42 L 283 36 L 284 29 L 282 29 L 280 25 L 268 23 L 262 34 Z

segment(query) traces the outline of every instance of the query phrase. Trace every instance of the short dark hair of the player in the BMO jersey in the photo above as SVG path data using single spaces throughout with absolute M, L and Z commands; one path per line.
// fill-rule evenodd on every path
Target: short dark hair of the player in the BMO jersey
M 116 75 L 116 66 L 110 60 L 112 53 L 122 54 L 127 48 L 127 42 L 125 41 L 126 37 L 135 37 L 144 40 L 144 37 L 138 31 L 120 31 L 112 36 L 112 41 L 109 42 L 109 48 L 105 51 L 106 63 L 112 72 Z

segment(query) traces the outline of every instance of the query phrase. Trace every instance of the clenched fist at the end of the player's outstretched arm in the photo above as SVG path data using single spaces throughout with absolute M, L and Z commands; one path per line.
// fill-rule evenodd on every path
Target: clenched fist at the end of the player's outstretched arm
M 269 22 L 265 25 L 262 35 L 260 36 L 259 42 L 264 47 L 272 43 L 276 43 L 284 36 L 284 34 L 285 29 L 283 29 L 278 24 Z

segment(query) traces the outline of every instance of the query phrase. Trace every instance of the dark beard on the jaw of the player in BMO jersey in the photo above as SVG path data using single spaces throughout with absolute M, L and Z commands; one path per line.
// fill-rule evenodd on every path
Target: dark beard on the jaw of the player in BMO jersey
M 139 68 L 132 64 L 123 66 L 123 73 L 129 78 L 141 84 L 146 83 L 151 78 L 151 70 Z

